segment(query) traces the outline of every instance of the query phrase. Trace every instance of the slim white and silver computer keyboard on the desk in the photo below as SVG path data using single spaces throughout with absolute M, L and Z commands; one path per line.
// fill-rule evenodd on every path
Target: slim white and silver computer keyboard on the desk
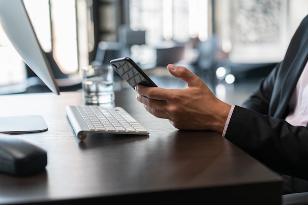
M 149 132 L 121 107 L 67 105 L 67 117 L 78 139 L 88 133 L 148 135 Z

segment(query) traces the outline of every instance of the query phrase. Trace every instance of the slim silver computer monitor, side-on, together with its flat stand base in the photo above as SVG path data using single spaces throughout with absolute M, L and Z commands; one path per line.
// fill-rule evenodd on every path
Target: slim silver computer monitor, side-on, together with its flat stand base
M 15 50 L 33 72 L 56 94 L 60 89 L 35 34 L 23 0 L 0 0 L 0 25 Z M 0 133 L 45 131 L 41 116 L 0 117 Z

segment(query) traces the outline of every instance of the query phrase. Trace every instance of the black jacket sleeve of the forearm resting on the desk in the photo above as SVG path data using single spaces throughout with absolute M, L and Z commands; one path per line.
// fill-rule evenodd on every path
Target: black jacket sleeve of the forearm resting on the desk
M 308 179 L 308 128 L 236 106 L 225 138 L 275 172 Z

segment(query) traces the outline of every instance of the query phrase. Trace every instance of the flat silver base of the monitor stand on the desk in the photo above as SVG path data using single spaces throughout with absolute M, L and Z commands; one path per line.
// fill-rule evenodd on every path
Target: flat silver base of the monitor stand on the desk
M 0 133 L 22 134 L 43 132 L 48 126 L 42 116 L 0 117 Z

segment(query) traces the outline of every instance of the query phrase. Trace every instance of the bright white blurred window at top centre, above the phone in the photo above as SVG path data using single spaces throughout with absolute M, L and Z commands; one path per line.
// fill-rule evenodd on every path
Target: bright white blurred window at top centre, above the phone
M 209 0 L 130 0 L 130 27 L 147 31 L 147 43 L 206 39 Z

